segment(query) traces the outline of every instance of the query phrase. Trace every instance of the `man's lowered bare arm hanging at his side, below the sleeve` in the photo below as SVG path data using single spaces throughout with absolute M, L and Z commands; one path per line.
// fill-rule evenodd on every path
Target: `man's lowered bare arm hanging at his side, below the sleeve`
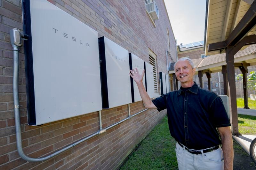
M 224 156 L 224 169 L 229 170 L 233 169 L 233 140 L 230 130 L 230 126 L 217 128 L 220 133 L 223 156 Z

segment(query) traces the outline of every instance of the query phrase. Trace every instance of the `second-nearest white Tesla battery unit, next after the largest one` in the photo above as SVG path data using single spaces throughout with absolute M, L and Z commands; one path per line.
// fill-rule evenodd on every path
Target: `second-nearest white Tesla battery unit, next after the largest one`
M 106 37 L 99 38 L 102 107 L 132 103 L 128 50 Z

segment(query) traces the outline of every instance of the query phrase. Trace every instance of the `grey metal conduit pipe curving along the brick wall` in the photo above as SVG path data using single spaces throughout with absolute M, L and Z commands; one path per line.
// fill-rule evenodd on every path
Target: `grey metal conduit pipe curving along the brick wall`
M 20 157 L 26 161 L 29 161 L 29 162 L 39 162 L 39 161 L 44 161 L 44 160 L 48 160 L 62 152 L 65 152 L 67 151 L 68 149 L 96 136 L 96 135 L 99 135 L 99 134 L 102 134 L 104 132 L 106 132 L 106 130 L 110 129 L 110 128 L 113 128 L 114 126 L 130 119 L 131 117 L 133 116 L 136 116 L 148 109 L 144 109 L 132 116 L 130 116 L 130 105 L 129 105 L 129 117 L 125 118 L 124 120 L 122 121 L 119 121 L 119 122 L 116 122 L 115 124 L 111 125 L 111 126 L 108 126 L 104 129 L 102 129 L 102 125 L 101 125 L 101 111 L 99 111 L 99 116 L 100 116 L 100 130 L 93 133 L 92 135 L 89 135 L 77 142 L 75 142 L 74 144 L 70 144 L 68 145 L 67 147 L 57 151 L 57 152 L 54 152 L 48 156 L 45 156 L 43 158 L 30 158 L 28 157 L 27 155 L 25 155 L 25 153 L 23 152 L 22 150 L 22 140 L 21 140 L 21 129 L 20 129 L 20 108 L 19 108 L 19 91 L 18 91 L 18 77 L 19 77 L 19 46 L 16 46 L 14 44 L 12 44 L 12 47 L 13 47 L 13 60 L 14 60 L 14 63 L 13 63 L 13 100 L 14 100 L 14 117 L 15 117 L 15 129 L 16 129 L 16 142 L 17 142 L 17 150 L 18 150 L 18 153 L 20 155 Z

